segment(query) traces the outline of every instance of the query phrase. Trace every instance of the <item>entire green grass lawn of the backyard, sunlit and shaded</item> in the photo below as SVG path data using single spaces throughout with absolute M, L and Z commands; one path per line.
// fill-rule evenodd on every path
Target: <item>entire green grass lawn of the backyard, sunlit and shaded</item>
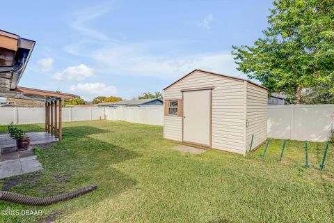
M 44 125 L 22 125 L 43 131 Z M 6 126 L 0 126 L 5 132 Z M 324 143 L 272 140 L 246 157 L 173 151 L 163 128 L 118 121 L 63 124 L 63 141 L 35 150 L 45 168 L 0 180 L 2 190 L 49 196 L 96 184 L 97 190 L 51 206 L 0 202 L 0 210 L 42 210 L 4 222 L 334 222 L 334 148 L 319 171 Z

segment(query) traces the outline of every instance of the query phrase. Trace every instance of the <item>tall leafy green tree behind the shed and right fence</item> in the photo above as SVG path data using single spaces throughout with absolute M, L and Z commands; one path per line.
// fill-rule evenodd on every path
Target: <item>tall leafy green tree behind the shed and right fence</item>
M 278 0 L 273 6 L 264 38 L 232 46 L 237 69 L 296 104 L 303 89 L 326 84 L 333 93 L 334 1 Z

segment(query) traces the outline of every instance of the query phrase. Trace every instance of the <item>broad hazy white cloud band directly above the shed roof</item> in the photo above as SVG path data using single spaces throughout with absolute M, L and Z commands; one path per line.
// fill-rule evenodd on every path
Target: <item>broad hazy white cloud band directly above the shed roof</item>
M 226 75 L 241 75 L 236 70 L 230 52 L 189 54 L 184 56 L 157 56 L 146 47 L 122 45 L 104 47 L 90 56 L 97 62 L 99 73 L 109 75 L 148 76 L 172 79 L 196 68 L 222 72 Z

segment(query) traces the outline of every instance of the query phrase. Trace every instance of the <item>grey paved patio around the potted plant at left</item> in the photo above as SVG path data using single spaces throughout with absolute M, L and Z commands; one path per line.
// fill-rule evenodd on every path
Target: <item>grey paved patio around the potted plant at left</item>
M 47 132 L 28 132 L 31 145 L 48 144 L 58 141 Z M 33 146 L 27 150 L 17 151 L 16 141 L 8 134 L 0 134 L 0 178 L 31 173 L 43 169 L 42 164 L 33 155 Z

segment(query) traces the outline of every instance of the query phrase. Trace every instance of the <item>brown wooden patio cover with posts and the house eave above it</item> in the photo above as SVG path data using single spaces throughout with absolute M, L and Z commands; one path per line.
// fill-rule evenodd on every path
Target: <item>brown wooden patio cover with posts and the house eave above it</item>
M 61 140 L 63 100 L 75 95 L 17 86 L 34 46 L 33 40 L 0 30 L 0 97 L 45 102 L 45 132 Z

